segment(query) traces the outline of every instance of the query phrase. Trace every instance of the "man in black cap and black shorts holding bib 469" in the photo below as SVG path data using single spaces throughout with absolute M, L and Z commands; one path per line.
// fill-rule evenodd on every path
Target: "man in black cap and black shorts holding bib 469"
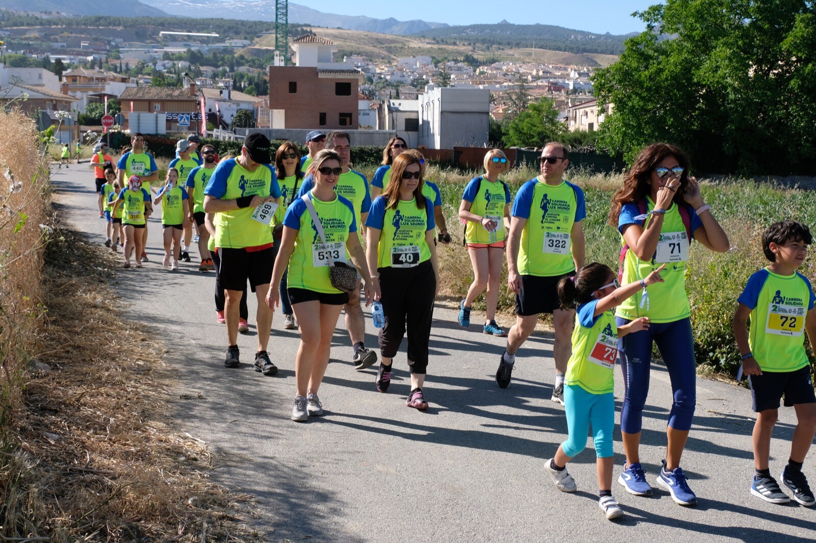
M 224 287 L 227 321 L 227 357 L 224 365 L 237 368 L 239 303 L 246 280 L 258 297 L 258 350 L 255 371 L 277 373 L 269 360 L 267 344 L 272 326 L 272 310 L 264 302 L 272 280 L 273 236 L 269 222 L 274 210 L 256 210 L 259 205 L 281 203 L 269 139 L 251 134 L 244 139 L 239 157 L 221 161 L 204 189 L 204 211 L 215 214 L 215 248 L 220 251 L 220 284 Z M 255 214 L 255 211 L 259 211 Z M 255 215 L 255 216 L 254 216 Z M 262 216 L 263 215 L 263 216 Z

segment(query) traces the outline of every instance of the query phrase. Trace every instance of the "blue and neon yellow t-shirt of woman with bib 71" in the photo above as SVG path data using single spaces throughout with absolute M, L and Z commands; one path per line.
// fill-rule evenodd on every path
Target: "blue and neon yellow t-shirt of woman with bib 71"
M 648 211 L 654 209 L 654 202 L 650 198 L 646 199 Z M 643 220 L 636 220 L 640 214 L 636 204 L 625 204 L 620 211 L 618 219 L 618 230 L 623 232 L 623 227 L 628 224 L 638 224 L 646 227 Z M 703 222 L 694 213 L 690 212 L 691 235 L 698 227 L 703 226 Z M 647 221 L 652 219 L 649 216 Z M 621 234 L 622 245 L 626 244 Z M 685 224 L 681 217 L 677 205 L 672 204 L 663 215 L 663 227 L 660 228 L 660 241 L 658 249 L 650 260 L 642 261 L 634 254 L 627 251 L 623 258 L 623 285 L 628 285 L 634 281 L 645 279 L 651 272 L 658 269 L 662 264 L 666 264 L 666 269 L 661 272 L 663 283 L 649 285 L 646 289 L 648 294 L 648 306 L 641 307 L 643 291 L 638 291 L 632 298 L 618 306 L 615 315 L 628 320 L 635 320 L 641 316 L 647 316 L 652 322 L 674 322 L 690 316 L 689 297 L 685 293 L 685 263 L 689 258 L 690 240 L 686 234 Z

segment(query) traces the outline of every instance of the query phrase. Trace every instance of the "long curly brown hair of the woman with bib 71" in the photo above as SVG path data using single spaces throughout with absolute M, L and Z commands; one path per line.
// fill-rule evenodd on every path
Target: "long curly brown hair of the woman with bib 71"
M 617 227 L 620 217 L 620 210 L 624 204 L 633 204 L 649 196 L 651 188 L 652 170 L 666 157 L 675 157 L 677 163 L 683 168 L 680 176 L 680 187 L 674 193 L 675 204 L 681 205 L 684 201 L 683 193 L 689 184 L 689 156 L 681 148 L 672 143 L 652 143 L 646 146 L 637 155 L 632 169 L 623 179 L 623 187 L 612 196 L 612 206 L 610 208 L 609 223 Z

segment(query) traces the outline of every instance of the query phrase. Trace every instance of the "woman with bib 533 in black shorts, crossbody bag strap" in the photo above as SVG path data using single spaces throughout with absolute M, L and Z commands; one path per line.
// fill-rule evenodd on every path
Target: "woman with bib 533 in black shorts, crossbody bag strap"
M 366 281 L 366 305 L 372 297 L 379 298 L 379 286 L 371 284 L 366 255 L 356 235 L 353 205 L 335 193 L 335 186 L 343 173 L 340 164 L 339 155 L 330 149 L 324 149 L 314 157 L 309 167 L 314 176 L 314 187 L 286 210 L 281 249 L 275 258 L 272 275 L 272 284 L 277 285 L 288 267 L 286 287 L 300 327 L 300 346 L 295 355 L 295 405 L 291 416 L 295 422 L 307 421 L 309 415 L 323 414 L 317 390 L 329 364 L 331 334 L 335 331 L 340 310 L 348 303 L 348 293 L 331 284 L 330 264 L 345 262 L 348 249 L 354 265 Z M 325 243 L 313 223 L 312 210 L 304 201 L 306 198 L 322 225 Z M 274 310 L 280 297 L 278 289 L 269 289 L 267 306 Z

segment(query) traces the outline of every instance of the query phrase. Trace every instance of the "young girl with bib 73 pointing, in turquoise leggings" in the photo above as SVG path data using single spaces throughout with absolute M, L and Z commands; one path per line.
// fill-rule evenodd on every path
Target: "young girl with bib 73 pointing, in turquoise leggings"
M 615 326 L 614 313 L 610 310 L 638 290 L 662 283 L 660 272 L 664 267 L 654 270 L 645 279 L 619 287 L 618 278 L 610 267 L 591 263 L 582 267 L 574 277 L 565 277 L 558 283 L 558 297 L 564 307 L 578 303 L 572 333 L 572 356 L 564 381 L 566 425 L 570 435 L 558 447 L 556 456 L 545 461 L 544 470 L 561 492 L 575 492 L 577 486 L 567 473 L 566 463 L 583 451 L 592 423 L 592 439 L 598 458 L 598 505 L 607 519 L 616 519 L 623 514 L 611 490 L 613 369 L 618 356 L 618 338 L 649 329 L 650 326 L 648 317 Z

